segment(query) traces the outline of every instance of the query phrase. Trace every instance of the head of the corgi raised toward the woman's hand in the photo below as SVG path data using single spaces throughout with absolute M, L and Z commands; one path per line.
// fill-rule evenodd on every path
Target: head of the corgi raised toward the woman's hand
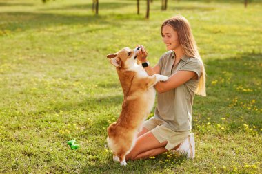
M 110 63 L 118 68 L 128 69 L 137 64 L 137 51 L 140 47 L 136 47 L 131 50 L 129 47 L 125 47 L 117 53 L 108 54 L 107 58 L 110 58 Z

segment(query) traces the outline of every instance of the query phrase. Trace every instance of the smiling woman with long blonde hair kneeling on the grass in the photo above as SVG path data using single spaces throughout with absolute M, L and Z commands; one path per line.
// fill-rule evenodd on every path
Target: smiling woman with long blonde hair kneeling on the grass
M 161 56 L 157 65 L 150 67 L 148 52 L 142 45 L 137 58 L 149 75 L 163 74 L 169 80 L 155 85 L 154 116 L 143 124 L 126 160 L 145 159 L 178 149 L 188 159 L 194 158 L 194 133 L 190 133 L 192 105 L 195 94 L 205 96 L 205 67 L 185 17 L 164 21 L 161 34 L 168 52 Z

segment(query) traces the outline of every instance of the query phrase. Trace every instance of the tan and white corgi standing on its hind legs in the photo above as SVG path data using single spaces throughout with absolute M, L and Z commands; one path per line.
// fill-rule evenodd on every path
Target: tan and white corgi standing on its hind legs
M 128 155 L 134 146 L 137 133 L 141 131 L 143 122 L 150 115 L 154 106 L 156 91 L 154 85 L 159 81 L 168 80 L 167 76 L 154 74 L 148 76 L 145 69 L 137 64 L 137 51 L 123 48 L 117 53 L 108 54 L 110 63 L 117 69 L 117 74 L 123 89 L 123 104 L 117 122 L 108 127 L 108 146 L 114 153 L 114 161 L 122 166 L 127 163 Z

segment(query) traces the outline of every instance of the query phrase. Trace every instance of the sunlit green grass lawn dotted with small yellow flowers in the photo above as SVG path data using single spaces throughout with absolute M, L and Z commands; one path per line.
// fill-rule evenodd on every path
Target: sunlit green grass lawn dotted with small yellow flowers
M 259 173 L 262 161 L 262 3 L 0 0 L 0 173 Z M 161 23 L 183 14 L 206 65 L 194 100 L 196 158 L 165 153 L 112 161 L 106 128 L 122 90 L 106 55 L 143 44 L 157 63 Z M 152 111 L 153 113 L 153 111 Z M 75 139 L 81 149 L 66 144 Z

